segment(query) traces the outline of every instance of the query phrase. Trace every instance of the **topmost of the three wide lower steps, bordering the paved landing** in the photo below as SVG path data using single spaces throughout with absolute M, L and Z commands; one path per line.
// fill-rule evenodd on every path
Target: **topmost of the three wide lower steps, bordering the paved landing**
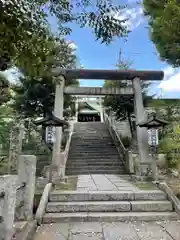
M 147 191 L 52 191 L 51 202 L 72 201 L 163 201 L 167 199 L 164 192 L 160 190 Z

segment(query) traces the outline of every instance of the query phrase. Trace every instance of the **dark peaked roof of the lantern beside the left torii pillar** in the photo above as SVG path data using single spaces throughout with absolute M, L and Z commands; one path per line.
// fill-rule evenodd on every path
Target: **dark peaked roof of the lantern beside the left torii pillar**
M 34 121 L 35 125 L 39 126 L 42 125 L 44 127 L 48 126 L 54 126 L 54 127 L 62 127 L 62 126 L 68 126 L 68 122 L 65 120 L 61 120 L 54 116 L 53 114 L 50 114 L 49 116 L 42 118 L 40 120 Z

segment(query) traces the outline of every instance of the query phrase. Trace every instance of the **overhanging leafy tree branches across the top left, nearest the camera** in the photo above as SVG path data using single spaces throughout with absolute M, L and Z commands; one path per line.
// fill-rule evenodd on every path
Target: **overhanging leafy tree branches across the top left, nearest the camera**
M 128 33 L 125 21 L 115 17 L 124 7 L 109 0 L 0 0 L 0 67 L 11 60 L 32 72 L 32 65 L 43 62 L 47 57 L 44 49 L 50 44 L 48 13 L 57 18 L 61 37 L 71 32 L 69 23 L 75 22 L 91 27 L 98 40 L 109 44 Z

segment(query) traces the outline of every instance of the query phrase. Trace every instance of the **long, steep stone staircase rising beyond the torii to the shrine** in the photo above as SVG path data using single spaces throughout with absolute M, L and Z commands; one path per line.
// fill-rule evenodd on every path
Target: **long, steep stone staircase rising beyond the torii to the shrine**
M 101 122 L 75 123 L 66 174 L 124 173 L 123 162 L 107 126 Z

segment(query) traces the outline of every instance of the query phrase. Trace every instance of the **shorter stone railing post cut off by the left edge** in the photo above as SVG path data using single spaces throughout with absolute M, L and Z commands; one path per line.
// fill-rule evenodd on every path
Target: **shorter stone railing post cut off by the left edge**
M 10 240 L 14 234 L 17 176 L 0 177 L 0 240 Z

